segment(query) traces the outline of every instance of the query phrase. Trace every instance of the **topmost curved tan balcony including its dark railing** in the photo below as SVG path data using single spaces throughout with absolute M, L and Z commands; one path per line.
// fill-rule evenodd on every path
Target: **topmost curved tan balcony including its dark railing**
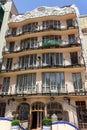
M 46 35 L 69 35 L 69 34 L 78 34 L 78 26 L 72 26 L 72 27 L 65 27 L 65 28 L 53 28 L 53 27 L 46 27 L 40 29 L 37 27 L 34 30 L 26 30 L 22 32 L 18 32 L 12 34 L 11 32 L 7 32 L 6 34 L 6 40 L 9 41 L 17 41 L 22 40 L 30 37 L 38 37 L 38 36 L 46 36 Z

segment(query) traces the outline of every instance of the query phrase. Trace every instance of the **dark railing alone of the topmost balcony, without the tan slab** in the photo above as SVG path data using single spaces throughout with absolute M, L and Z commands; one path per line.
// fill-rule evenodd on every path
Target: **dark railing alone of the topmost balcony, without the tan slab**
M 12 34 L 9 30 L 7 31 L 6 33 L 6 37 L 9 37 L 9 36 L 20 36 L 20 35 L 23 35 L 23 34 L 27 34 L 27 33 L 37 33 L 37 32 L 44 32 L 44 31 L 50 31 L 50 30 L 58 30 L 58 31 L 64 31 L 64 30 L 69 30 L 69 29 L 78 29 L 78 26 L 72 26 L 72 27 L 65 27 L 65 28 L 62 28 L 62 27 L 42 27 L 40 28 L 39 26 L 33 30 L 22 30 L 21 32 L 17 32 L 15 34 Z

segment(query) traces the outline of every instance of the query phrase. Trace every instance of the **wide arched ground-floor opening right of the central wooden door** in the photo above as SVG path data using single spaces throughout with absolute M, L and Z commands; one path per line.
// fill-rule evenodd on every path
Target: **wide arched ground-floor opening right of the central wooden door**
M 47 104 L 47 114 L 48 117 L 51 118 L 53 114 L 56 114 L 57 120 L 63 120 L 63 108 L 60 103 L 50 102 Z

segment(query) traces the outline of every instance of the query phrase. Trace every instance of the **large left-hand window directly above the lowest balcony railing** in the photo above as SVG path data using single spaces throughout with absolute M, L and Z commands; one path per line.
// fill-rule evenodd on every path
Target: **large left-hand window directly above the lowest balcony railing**
M 33 92 L 36 89 L 36 74 L 24 74 L 17 76 L 16 91 Z

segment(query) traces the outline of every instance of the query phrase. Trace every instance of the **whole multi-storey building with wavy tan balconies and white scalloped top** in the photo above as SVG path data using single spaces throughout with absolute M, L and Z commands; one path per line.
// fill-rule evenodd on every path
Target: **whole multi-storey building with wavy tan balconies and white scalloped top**
M 0 116 L 41 129 L 42 119 L 87 129 L 85 54 L 78 9 L 40 7 L 12 16 L 0 73 Z

